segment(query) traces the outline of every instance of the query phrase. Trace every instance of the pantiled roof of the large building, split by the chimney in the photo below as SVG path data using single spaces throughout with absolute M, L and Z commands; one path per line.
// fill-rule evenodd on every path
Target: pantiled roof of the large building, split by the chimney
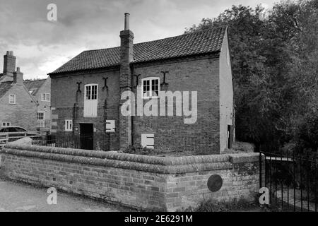
M 222 46 L 225 30 L 226 27 L 223 26 L 163 40 L 134 44 L 134 63 L 218 52 Z M 78 54 L 50 74 L 100 69 L 117 66 L 119 62 L 120 47 L 89 50 Z

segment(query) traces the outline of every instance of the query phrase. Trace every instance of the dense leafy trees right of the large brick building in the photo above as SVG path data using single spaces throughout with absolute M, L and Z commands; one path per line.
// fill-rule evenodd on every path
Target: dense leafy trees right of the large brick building
M 240 5 L 186 29 L 228 25 L 238 140 L 317 151 L 317 13 L 318 0 Z

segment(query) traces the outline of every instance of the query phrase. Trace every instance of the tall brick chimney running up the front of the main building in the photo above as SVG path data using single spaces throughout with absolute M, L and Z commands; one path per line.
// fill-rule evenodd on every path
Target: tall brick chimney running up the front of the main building
M 129 13 L 125 13 L 124 30 L 120 32 L 120 95 L 131 90 L 130 63 L 134 54 L 134 33 L 129 30 Z M 119 110 L 126 100 L 119 100 Z M 131 116 L 123 116 L 119 112 L 119 148 L 124 150 L 131 145 Z

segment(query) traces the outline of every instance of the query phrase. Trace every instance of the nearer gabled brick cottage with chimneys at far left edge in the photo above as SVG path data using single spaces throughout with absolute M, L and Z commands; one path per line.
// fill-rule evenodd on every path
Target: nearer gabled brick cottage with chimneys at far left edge
M 23 73 L 16 69 L 13 52 L 4 55 L 4 73 L 0 74 L 0 128 L 21 126 L 35 131 L 37 102 L 23 85 Z

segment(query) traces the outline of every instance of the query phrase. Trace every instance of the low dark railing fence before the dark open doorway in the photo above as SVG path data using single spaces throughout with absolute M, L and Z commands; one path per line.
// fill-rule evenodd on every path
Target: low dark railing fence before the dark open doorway
M 86 150 L 110 150 L 110 136 L 100 134 L 94 136 L 81 135 L 49 135 L 33 140 L 33 145 L 42 145 L 57 148 L 76 148 Z

